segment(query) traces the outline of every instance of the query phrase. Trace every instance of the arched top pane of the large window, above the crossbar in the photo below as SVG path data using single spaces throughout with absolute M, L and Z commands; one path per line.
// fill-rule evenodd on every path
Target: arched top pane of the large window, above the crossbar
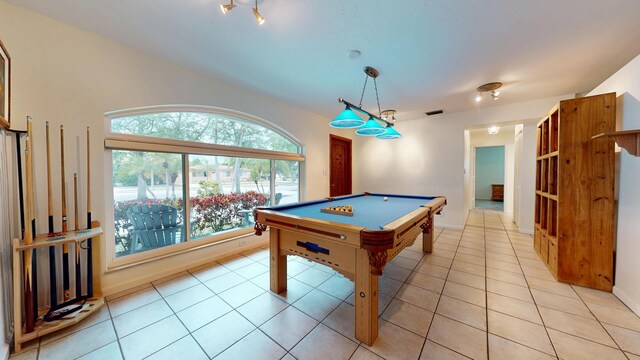
M 302 152 L 300 142 L 270 122 L 206 106 L 155 106 L 106 114 L 113 134 L 137 135 L 251 149 Z

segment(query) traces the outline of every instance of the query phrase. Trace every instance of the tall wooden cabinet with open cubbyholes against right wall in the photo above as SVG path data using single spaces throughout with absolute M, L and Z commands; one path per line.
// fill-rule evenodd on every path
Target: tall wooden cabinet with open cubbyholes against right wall
M 562 282 L 611 291 L 615 93 L 561 101 L 538 123 L 534 248 Z

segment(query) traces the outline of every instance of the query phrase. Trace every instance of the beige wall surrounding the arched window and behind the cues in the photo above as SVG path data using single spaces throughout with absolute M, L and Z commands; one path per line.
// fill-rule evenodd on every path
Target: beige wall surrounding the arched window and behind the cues
M 142 106 L 207 105 L 233 109 L 268 120 L 289 131 L 306 146 L 306 187 L 303 196 L 306 199 L 316 199 L 328 195 L 328 119 L 2 0 L 0 37 L 12 57 L 12 127 L 24 129 L 26 115 L 31 115 L 34 120 L 35 186 L 40 232 L 46 231 L 47 216 L 44 122 L 50 121 L 54 129 L 60 124 L 65 126 L 68 184 L 71 184 L 74 172 L 84 174 L 86 171 L 84 153 L 82 152 L 78 161 L 75 143 L 76 138 L 82 139 L 80 143 L 84 146 L 85 126 L 91 126 L 92 210 L 94 219 L 104 222 L 111 189 L 105 188 L 105 183 L 108 183 L 105 177 L 109 176 L 105 169 L 109 167 L 105 163 L 107 152 L 103 145 L 103 114 Z M 336 112 L 339 110 L 336 107 Z M 57 138 L 54 144 L 58 144 Z M 53 159 L 53 172 L 56 174 L 54 188 L 59 189 L 57 145 L 53 148 Z M 85 186 L 82 175 L 81 190 Z M 58 190 L 54 191 L 54 201 L 55 204 L 60 204 Z M 85 201 L 82 196 L 81 204 L 85 204 Z M 58 229 L 61 212 L 59 207 L 56 206 L 55 214 Z M 84 205 L 81 212 L 83 210 Z M 73 214 L 71 205 L 69 214 Z M 84 225 L 84 221 L 81 221 L 81 225 Z M 14 235 L 17 234 L 15 229 L 14 226 Z M 246 238 L 225 243 L 215 249 L 200 249 L 135 268 L 110 272 L 104 277 L 103 289 L 111 293 L 128 288 L 176 272 L 177 269 L 211 261 L 221 252 L 234 252 L 256 244 L 256 241 L 265 240 L 264 236 L 257 240 Z M 101 241 L 104 253 L 105 241 L 113 240 L 102 237 Z M 46 262 L 43 261 L 42 266 L 45 265 Z M 43 269 L 41 274 L 46 274 L 46 271 Z M 40 283 L 48 282 L 42 279 Z

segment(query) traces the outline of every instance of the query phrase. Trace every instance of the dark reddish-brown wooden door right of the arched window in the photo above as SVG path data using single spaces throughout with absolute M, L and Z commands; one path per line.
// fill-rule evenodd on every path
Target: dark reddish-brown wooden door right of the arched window
M 351 194 L 351 139 L 329 136 L 329 196 Z

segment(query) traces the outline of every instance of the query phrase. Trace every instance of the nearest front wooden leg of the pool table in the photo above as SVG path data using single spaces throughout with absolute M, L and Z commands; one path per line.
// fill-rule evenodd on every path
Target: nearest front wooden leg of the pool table
M 371 346 L 378 337 L 378 276 L 371 274 L 367 250 L 356 251 L 356 339 Z

